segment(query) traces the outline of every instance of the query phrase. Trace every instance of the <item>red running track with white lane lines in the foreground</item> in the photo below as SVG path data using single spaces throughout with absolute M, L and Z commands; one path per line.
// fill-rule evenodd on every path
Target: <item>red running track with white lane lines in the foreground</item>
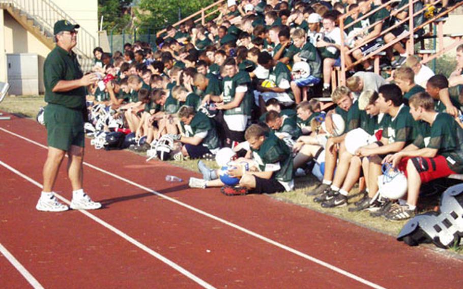
M 12 121 L 0 123 L 0 127 L 42 144 L 46 143 L 44 129 L 33 121 L 14 118 Z M 27 128 L 27 131 L 24 128 Z M 45 156 L 44 149 L 0 131 L 0 160 L 36 181 L 41 181 L 41 166 Z M 169 197 L 319 258 L 380 286 L 461 287 L 461 274 L 457 273 L 463 269 L 461 261 L 445 258 L 422 247 L 410 248 L 396 242 L 393 237 L 371 232 L 306 208 L 284 204 L 267 196 L 225 197 L 215 189 L 189 189 L 185 185 L 186 182 L 166 183 L 163 179 L 167 173 L 175 174 L 185 180 L 193 173 L 157 161 L 147 164 L 144 158 L 129 152 L 95 151 L 88 146 L 85 159 L 114 174 L 152 187 Z M 133 246 L 132 249 L 138 254 L 135 259 L 131 259 L 130 254 L 124 254 L 127 252 L 124 246 L 130 247 L 130 244 L 78 212 L 60 214 L 36 212 L 34 206 L 40 189 L 3 167 L 0 171 L 2 176 L 10 175 L 17 181 L 7 188 L 10 197 L 18 195 L 19 189 L 24 202 L 21 206 L 12 206 L 9 203 L 11 198 L 4 194 L 0 197 L 1 211 L 11 214 L 8 222 L 0 223 L 0 243 L 4 244 L 46 287 L 57 287 L 62 284 L 73 286 L 74 284 L 69 281 L 79 279 L 79 274 L 89 276 L 86 271 L 95 272 L 89 274 L 97 279 L 108 276 L 107 282 L 114 280 L 116 284 L 123 284 L 123 286 L 139 286 L 142 283 L 144 286 L 156 284 L 166 287 L 191 287 L 195 284 Z M 85 187 L 93 198 L 101 200 L 106 206 L 106 209 L 92 213 L 213 286 L 365 286 L 236 228 L 88 167 L 85 167 Z M 64 171 L 60 173 L 56 190 L 67 192 L 63 193 L 65 197 L 70 195 Z M 21 208 L 20 214 L 13 209 L 18 207 Z M 22 213 L 23 210 L 27 214 Z M 43 230 L 38 228 L 40 224 L 30 221 L 37 218 L 49 218 L 50 222 L 57 220 L 67 222 L 67 225 L 53 225 L 48 228 L 51 233 L 57 234 L 51 238 L 48 237 L 51 234 L 44 235 L 43 238 L 49 240 L 48 244 L 37 243 L 36 250 L 42 252 L 38 253 L 39 255 L 48 250 L 56 250 L 56 254 L 53 254 L 56 258 L 55 266 L 47 265 L 48 263 L 40 265 L 40 258 L 23 253 L 30 239 L 39 241 L 40 234 L 44 234 Z M 69 226 L 71 223 L 72 225 Z M 64 233 L 69 236 L 60 235 L 59 228 L 62 226 L 66 228 Z M 22 237 L 24 243 L 21 243 L 18 235 L 14 233 L 18 227 L 27 228 L 21 229 L 25 237 Z M 68 229 L 69 227 L 72 229 Z M 35 234 L 39 236 L 36 238 Z M 87 238 L 85 234 L 88 234 Z M 113 246 L 89 245 L 95 242 L 109 243 Z M 67 250 L 70 250 L 70 247 L 74 248 L 76 253 L 72 255 L 77 258 L 80 254 L 88 253 L 85 252 L 85 248 L 89 246 L 97 246 L 98 253 L 89 254 L 94 259 L 85 258 L 88 264 L 82 266 L 85 268 L 84 271 L 82 268 L 76 270 L 81 265 L 78 259 L 69 261 Z M 104 273 L 98 270 L 98 266 L 103 268 Z M 50 271 L 57 271 L 56 274 L 60 279 L 58 281 L 53 277 L 50 279 L 49 275 L 54 274 Z M 68 274 L 69 271 L 80 273 L 74 272 L 73 274 L 77 275 L 74 276 Z M 449 274 L 449 272 L 455 273 Z M 117 278 L 121 275 L 124 276 L 126 283 L 121 283 L 120 278 Z M 95 279 L 83 279 L 88 282 L 95 281 Z M 14 284 L 16 280 L 17 277 L 8 278 L 6 282 Z M 137 280 L 140 283 L 136 283 Z M 3 281 L 0 281 L 0 285 L 1 282 Z M 84 285 L 75 284 L 76 287 Z

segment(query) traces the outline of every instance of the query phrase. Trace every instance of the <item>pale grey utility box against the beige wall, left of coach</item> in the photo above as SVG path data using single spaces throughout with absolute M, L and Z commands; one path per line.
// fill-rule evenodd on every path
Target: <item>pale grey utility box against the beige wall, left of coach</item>
M 39 94 L 39 59 L 34 53 L 7 54 L 10 94 Z

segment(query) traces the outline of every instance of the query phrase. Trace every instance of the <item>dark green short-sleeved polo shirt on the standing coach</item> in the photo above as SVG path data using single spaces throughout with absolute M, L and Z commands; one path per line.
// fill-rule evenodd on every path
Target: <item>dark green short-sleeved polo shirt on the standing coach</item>
M 56 45 L 47 55 L 43 65 L 45 101 L 73 109 L 84 108 L 86 90 L 83 86 L 67 92 L 52 92 L 54 86 L 60 80 L 76 80 L 82 78 L 82 76 L 76 54 Z

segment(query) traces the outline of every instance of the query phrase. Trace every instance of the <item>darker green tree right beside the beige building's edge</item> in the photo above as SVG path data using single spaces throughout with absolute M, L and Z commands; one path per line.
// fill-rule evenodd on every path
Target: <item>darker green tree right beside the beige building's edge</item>
M 98 20 L 103 16 L 103 29 L 111 31 L 115 27 L 114 32 L 121 33 L 131 20 L 130 15 L 124 13 L 131 3 L 127 0 L 98 0 Z

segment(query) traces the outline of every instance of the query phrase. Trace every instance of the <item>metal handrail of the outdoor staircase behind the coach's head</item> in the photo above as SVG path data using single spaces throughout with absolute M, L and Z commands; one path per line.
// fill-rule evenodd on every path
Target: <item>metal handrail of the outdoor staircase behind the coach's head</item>
M 0 0 L 0 3 L 11 4 L 27 17 L 43 28 L 46 36 L 53 36 L 53 25 L 58 20 L 76 21 L 51 0 Z M 96 47 L 95 37 L 83 27 L 77 34 L 77 46 L 74 48 L 78 54 L 91 59 L 93 49 Z

